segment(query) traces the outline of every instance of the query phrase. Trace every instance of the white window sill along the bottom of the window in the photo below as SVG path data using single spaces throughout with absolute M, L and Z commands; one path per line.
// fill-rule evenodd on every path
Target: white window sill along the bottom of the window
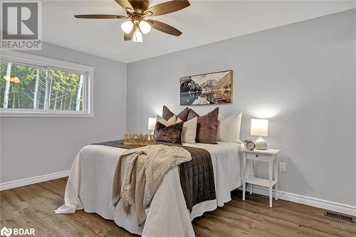
M 0 110 L 0 117 L 94 117 L 87 112 L 43 112 L 43 111 L 14 111 Z

